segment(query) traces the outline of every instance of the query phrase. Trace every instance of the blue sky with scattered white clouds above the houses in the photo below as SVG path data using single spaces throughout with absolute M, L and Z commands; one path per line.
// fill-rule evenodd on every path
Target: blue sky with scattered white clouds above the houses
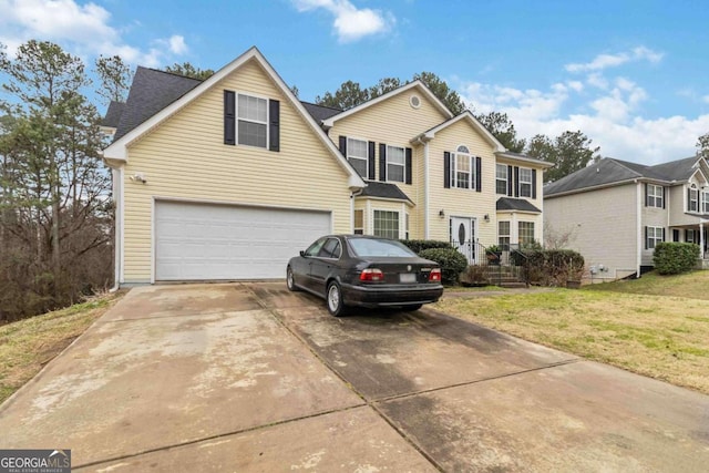
M 0 42 L 218 70 L 251 45 L 300 99 L 431 71 L 523 137 L 580 130 L 654 164 L 709 131 L 706 1 L 0 0 Z

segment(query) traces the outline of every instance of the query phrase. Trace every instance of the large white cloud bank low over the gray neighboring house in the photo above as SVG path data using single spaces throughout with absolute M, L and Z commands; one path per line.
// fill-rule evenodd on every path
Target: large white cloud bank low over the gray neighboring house
M 474 82 L 459 93 L 477 113 L 507 113 L 520 137 L 580 130 L 602 155 L 645 164 L 692 155 L 697 137 L 709 130 L 709 114 L 643 119 L 638 111 L 648 94 L 628 78 L 592 73 L 586 83 L 593 89 L 578 81 L 554 83 L 547 91 Z M 709 95 L 703 100 L 709 103 Z

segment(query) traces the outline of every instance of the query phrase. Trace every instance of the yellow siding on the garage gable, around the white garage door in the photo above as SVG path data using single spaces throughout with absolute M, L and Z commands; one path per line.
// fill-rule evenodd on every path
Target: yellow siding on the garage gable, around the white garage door
M 225 89 L 280 101 L 280 152 L 224 144 Z M 333 230 L 351 230 L 347 173 L 256 61 L 130 145 L 124 176 L 126 282 L 152 278 L 154 198 L 332 210 Z

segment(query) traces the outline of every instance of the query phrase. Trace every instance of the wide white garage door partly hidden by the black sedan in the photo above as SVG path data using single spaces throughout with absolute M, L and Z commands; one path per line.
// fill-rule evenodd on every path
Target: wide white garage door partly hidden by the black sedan
M 155 204 L 155 279 L 284 278 L 286 263 L 330 233 L 330 214 Z

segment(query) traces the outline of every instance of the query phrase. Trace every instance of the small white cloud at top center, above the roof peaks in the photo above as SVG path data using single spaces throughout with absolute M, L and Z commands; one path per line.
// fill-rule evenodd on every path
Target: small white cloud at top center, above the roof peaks
M 323 9 L 335 16 L 332 23 L 340 42 L 352 42 L 383 33 L 395 24 L 391 13 L 369 8 L 358 9 L 349 0 L 292 0 L 298 11 Z

